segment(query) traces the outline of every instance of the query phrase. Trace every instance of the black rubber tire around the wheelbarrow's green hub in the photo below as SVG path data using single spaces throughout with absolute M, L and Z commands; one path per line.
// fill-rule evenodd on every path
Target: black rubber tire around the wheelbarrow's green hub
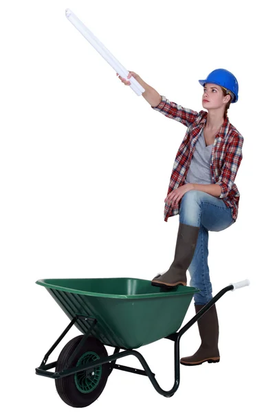
M 56 372 L 62 371 L 63 369 L 68 369 L 68 366 L 66 365 L 67 361 L 82 338 L 83 335 L 76 336 L 76 338 L 69 341 L 67 345 L 63 347 L 63 350 L 58 356 L 56 363 Z M 81 347 L 80 352 L 78 352 L 76 358 L 72 361 L 69 367 L 76 366 L 78 360 L 81 356 L 83 356 L 83 354 L 85 354 L 85 352 L 95 352 L 100 358 L 108 356 L 107 350 L 105 349 L 104 345 L 93 336 L 88 336 L 87 341 L 85 342 L 83 347 Z M 105 363 L 101 366 L 102 373 L 100 381 L 98 382 L 98 385 L 96 386 L 94 391 L 91 391 L 90 393 L 82 393 L 80 392 L 80 390 L 78 390 L 78 388 L 76 387 L 76 382 L 74 380 L 74 376 L 76 374 L 65 376 L 64 378 L 55 379 L 56 390 L 63 402 L 68 404 L 70 407 L 84 408 L 97 400 L 102 393 L 109 376 L 109 363 Z

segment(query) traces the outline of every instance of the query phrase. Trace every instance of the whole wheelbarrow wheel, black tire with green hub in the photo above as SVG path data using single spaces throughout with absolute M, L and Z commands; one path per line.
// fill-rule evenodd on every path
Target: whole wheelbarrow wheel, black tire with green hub
M 104 345 L 93 336 L 89 336 L 80 352 L 76 354 L 70 365 L 67 365 L 83 335 L 76 336 L 63 347 L 56 363 L 56 372 L 84 365 L 96 359 L 108 356 Z M 55 379 L 56 390 L 61 399 L 70 407 L 87 407 L 98 399 L 102 393 L 109 376 L 109 363 L 96 366 L 89 371 L 77 372 L 76 374 Z

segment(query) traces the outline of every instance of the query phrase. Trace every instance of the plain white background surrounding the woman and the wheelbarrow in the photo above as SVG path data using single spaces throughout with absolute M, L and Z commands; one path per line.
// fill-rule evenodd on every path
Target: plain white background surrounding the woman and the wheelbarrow
M 153 111 L 66 19 L 70 8 L 118 58 L 170 101 L 201 110 L 198 80 L 223 67 L 239 81 L 228 115 L 244 137 L 235 225 L 210 233 L 221 362 L 181 367 L 173 398 L 114 371 L 89 410 L 270 411 L 274 371 L 274 65 L 271 1 L 10 1 L 1 8 L 1 404 L 69 411 L 34 373 L 69 323 L 47 277 L 141 277 L 170 266 L 178 216 L 164 198 L 186 132 Z M 191 304 L 184 322 L 193 316 Z M 159 313 L 159 317 L 162 314 Z M 56 349 L 73 336 L 74 329 Z M 197 325 L 181 356 L 199 345 Z M 140 350 L 173 386 L 173 343 Z M 135 359 L 121 363 L 136 365 Z M 14 370 L 13 370 L 14 369 Z M 88 410 L 88 409 L 87 409 Z

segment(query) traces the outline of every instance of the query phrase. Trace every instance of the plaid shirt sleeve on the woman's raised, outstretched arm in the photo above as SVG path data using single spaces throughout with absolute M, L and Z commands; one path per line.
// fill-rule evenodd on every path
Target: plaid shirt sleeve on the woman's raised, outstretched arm
M 159 111 L 166 117 L 170 117 L 170 119 L 177 120 L 177 122 L 180 122 L 187 127 L 190 126 L 192 122 L 195 122 L 199 116 L 199 113 L 191 110 L 190 108 L 182 107 L 174 102 L 169 102 L 165 96 L 162 96 L 162 101 L 159 102 L 157 106 L 151 106 L 151 108 Z

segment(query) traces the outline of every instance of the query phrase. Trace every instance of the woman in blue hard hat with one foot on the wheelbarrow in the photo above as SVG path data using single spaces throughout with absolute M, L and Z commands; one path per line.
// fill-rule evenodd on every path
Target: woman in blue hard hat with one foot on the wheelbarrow
M 118 75 L 118 73 L 117 73 Z M 169 102 L 133 71 L 144 87 L 144 99 L 151 107 L 170 119 L 187 126 L 179 146 L 165 199 L 164 220 L 179 214 L 175 258 L 168 271 L 158 274 L 153 286 L 186 286 L 186 270 L 195 293 L 196 313 L 212 299 L 208 268 L 208 231 L 230 227 L 238 215 L 239 191 L 234 183 L 242 159 L 243 137 L 228 119 L 228 108 L 238 100 L 239 86 L 230 71 L 216 69 L 203 86 L 202 106 L 206 111 L 192 111 Z M 131 84 L 119 76 L 125 85 Z M 182 365 L 219 362 L 219 323 L 212 306 L 198 321 L 201 345 L 193 355 L 181 358 Z

